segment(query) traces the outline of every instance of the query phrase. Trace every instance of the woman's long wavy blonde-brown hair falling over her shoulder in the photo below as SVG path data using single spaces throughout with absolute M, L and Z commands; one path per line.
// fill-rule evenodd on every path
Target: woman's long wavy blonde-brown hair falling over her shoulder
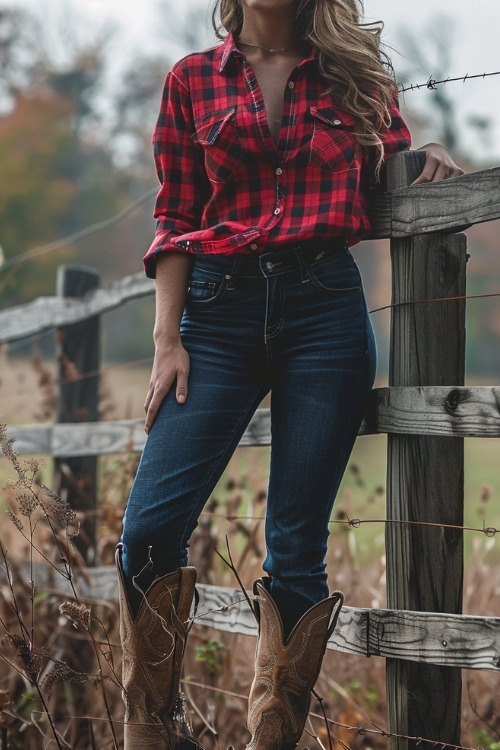
M 375 148 L 378 171 L 384 156 L 380 133 L 390 125 L 396 92 L 392 64 L 380 43 L 383 23 L 362 22 L 362 0 L 295 0 L 295 7 L 297 39 L 317 48 L 325 93 L 353 116 L 358 142 Z M 212 23 L 219 39 L 230 31 L 238 38 L 241 0 L 216 0 Z

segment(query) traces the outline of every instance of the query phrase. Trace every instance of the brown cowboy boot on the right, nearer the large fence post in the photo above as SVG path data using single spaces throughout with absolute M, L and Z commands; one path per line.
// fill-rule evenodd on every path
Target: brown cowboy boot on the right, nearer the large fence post
M 264 580 L 255 582 L 254 593 L 259 635 L 255 677 L 248 699 L 252 739 L 247 750 L 292 750 L 302 735 L 311 690 L 344 596 L 335 591 L 328 599 L 314 604 L 285 642 L 278 608 Z

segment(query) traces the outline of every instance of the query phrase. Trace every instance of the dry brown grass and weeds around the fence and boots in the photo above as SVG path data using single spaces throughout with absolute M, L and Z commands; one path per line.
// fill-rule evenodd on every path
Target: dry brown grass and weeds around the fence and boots
M 50 378 L 42 362 L 25 373 L 18 396 L 26 408 L 26 392 L 33 410 L 50 405 Z M 40 373 L 43 383 L 40 383 Z M 12 393 L 12 381 L 10 388 Z M 26 384 L 29 385 L 26 385 Z M 45 387 L 45 391 L 42 385 Z M 31 390 L 33 389 L 33 390 Z M 116 407 L 108 399 L 108 416 Z M 0 384 L 0 397 L 2 386 Z M 19 395 L 21 394 L 21 395 Z M 12 402 L 11 402 L 12 403 Z M 32 421 L 22 413 L 22 421 Z M 36 411 L 40 414 L 40 411 Z M 44 418 L 47 412 L 43 412 Z M 118 414 L 118 416 L 123 416 Z M 127 414 L 127 416 L 131 416 Z M 17 420 L 16 421 L 21 421 Z M 207 506 L 191 547 L 191 560 L 201 582 L 234 586 L 231 571 L 215 553 L 225 539 L 246 588 L 261 575 L 264 555 L 266 469 L 264 449 L 237 451 L 224 481 Z M 14 459 L 14 463 L 17 459 Z M 103 462 L 99 508 L 99 555 L 111 563 L 121 529 L 124 498 L 136 467 L 135 456 Z M 32 461 L 14 466 L 15 483 L 4 488 L 1 500 L 10 517 L 1 524 L 0 539 L 0 750 L 22 747 L 119 748 L 122 746 L 120 647 L 116 602 L 82 600 L 78 577 L 85 566 L 75 552 L 73 534 L 78 518 L 71 508 L 43 488 L 42 474 Z M 355 484 L 365 488 L 353 499 L 345 490 L 344 509 L 356 515 L 360 498 L 373 513 L 374 495 L 362 468 L 352 472 Z M 481 506 L 482 507 L 482 506 Z M 361 529 L 333 526 L 328 555 L 330 586 L 340 588 L 351 606 L 380 607 L 385 603 L 383 550 L 372 546 L 369 564 L 360 563 Z M 381 529 L 380 531 L 383 531 Z M 464 611 L 496 615 L 500 575 L 495 566 L 495 539 L 477 535 L 472 545 L 464 587 Z M 2 559 L 3 558 L 3 559 Z M 28 570 L 25 565 L 28 561 Z M 52 571 L 52 584 L 38 585 L 35 567 L 43 562 Z M 58 579 L 74 586 L 61 595 Z M 234 744 L 242 748 L 246 696 L 253 676 L 255 640 L 220 633 L 195 624 L 185 660 L 184 690 L 196 733 L 206 750 Z M 462 743 L 500 748 L 498 675 L 465 671 Z M 317 685 L 322 707 L 313 702 L 311 722 L 300 747 L 328 748 L 324 709 L 331 722 L 335 750 L 383 748 L 387 739 L 375 730 L 386 727 L 385 663 L 383 659 L 328 652 Z M 358 727 L 366 732 L 359 732 Z M 313 739 L 313 738 L 316 739 Z M 429 738 L 432 739 L 432 738 Z

